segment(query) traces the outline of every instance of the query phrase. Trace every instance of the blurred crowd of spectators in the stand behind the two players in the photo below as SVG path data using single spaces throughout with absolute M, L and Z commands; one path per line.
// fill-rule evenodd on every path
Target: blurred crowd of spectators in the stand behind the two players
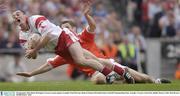
M 1 76 L 1 81 L 13 81 L 16 72 L 26 69 L 21 64 L 18 32 L 12 24 L 13 11 L 41 14 L 57 25 L 63 19 L 72 19 L 81 32 L 87 25 L 81 9 L 80 0 L 0 0 L 0 55 L 14 56 L 14 62 L 7 63 L 11 67 L 7 70 L 14 71 L 6 72 L 10 80 Z M 97 26 L 96 43 L 103 54 L 143 73 L 148 73 L 146 40 L 180 39 L 179 0 L 94 0 L 92 16 Z M 176 61 L 173 75 L 178 79 L 180 64 L 179 59 Z

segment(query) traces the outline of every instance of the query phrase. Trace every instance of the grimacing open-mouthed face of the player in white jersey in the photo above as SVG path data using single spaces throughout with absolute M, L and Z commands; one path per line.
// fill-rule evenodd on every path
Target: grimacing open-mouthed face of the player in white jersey
M 16 25 L 20 26 L 22 29 L 27 29 L 27 24 L 26 24 L 26 16 L 22 11 L 15 11 L 12 14 L 13 21 Z

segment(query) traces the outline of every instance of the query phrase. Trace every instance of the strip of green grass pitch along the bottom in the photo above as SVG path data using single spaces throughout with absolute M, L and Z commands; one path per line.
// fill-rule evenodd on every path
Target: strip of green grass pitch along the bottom
M 180 91 L 180 80 L 171 84 L 94 85 L 89 81 L 0 83 L 1 91 Z

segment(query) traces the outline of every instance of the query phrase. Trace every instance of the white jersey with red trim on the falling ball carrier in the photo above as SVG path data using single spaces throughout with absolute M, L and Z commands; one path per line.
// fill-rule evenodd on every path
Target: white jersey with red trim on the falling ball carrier
M 58 43 L 58 38 L 62 32 L 62 29 L 59 26 L 51 23 L 46 17 L 42 15 L 33 15 L 27 18 L 27 23 L 30 27 L 28 33 L 38 33 L 41 36 L 48 35 L 50 36 L 50 41 L 45 46 L 49 50 L 54 50 L 55 46 Z

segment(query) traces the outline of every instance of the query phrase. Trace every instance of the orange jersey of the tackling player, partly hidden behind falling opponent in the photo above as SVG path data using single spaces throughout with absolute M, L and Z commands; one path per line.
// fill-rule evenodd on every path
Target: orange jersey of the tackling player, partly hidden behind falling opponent
M 80 44 L 84 49 L 87 49 L 88 51 L 90 51 L 91 53 L 93 53 L 97 57 L 105 58 L 105 56 L 101 53 L 101 51 L 96 46 L 96 43 L 94 42 L 95 34 L 89 33 L 87 31 L 87 29 L 84 29 L 82 34 L 79 35 L 79 37 L 80 37 Z M 64 65 L 64 64 L 71 64 L 72 66 L 77 67 L 78 69 L 85 72 L 89 76 L 91 76 L 95 72 L 95 70 L 93 70 L 90 67 L 80 66 L 80 65 L 77 65 L 74 63 L 72 64 L 72 62 L 66 61 L 63 57 L 60 57 L 59 55 L 57 55 L 54 58 L 48 59 L 47 61 L 54 68 L 61 66 L 61 65 Z M 71 71 L 69 71 L 69 72 L 71 72 Z M 68 74 L 69 74 L 69 72 L 68 72 Z

